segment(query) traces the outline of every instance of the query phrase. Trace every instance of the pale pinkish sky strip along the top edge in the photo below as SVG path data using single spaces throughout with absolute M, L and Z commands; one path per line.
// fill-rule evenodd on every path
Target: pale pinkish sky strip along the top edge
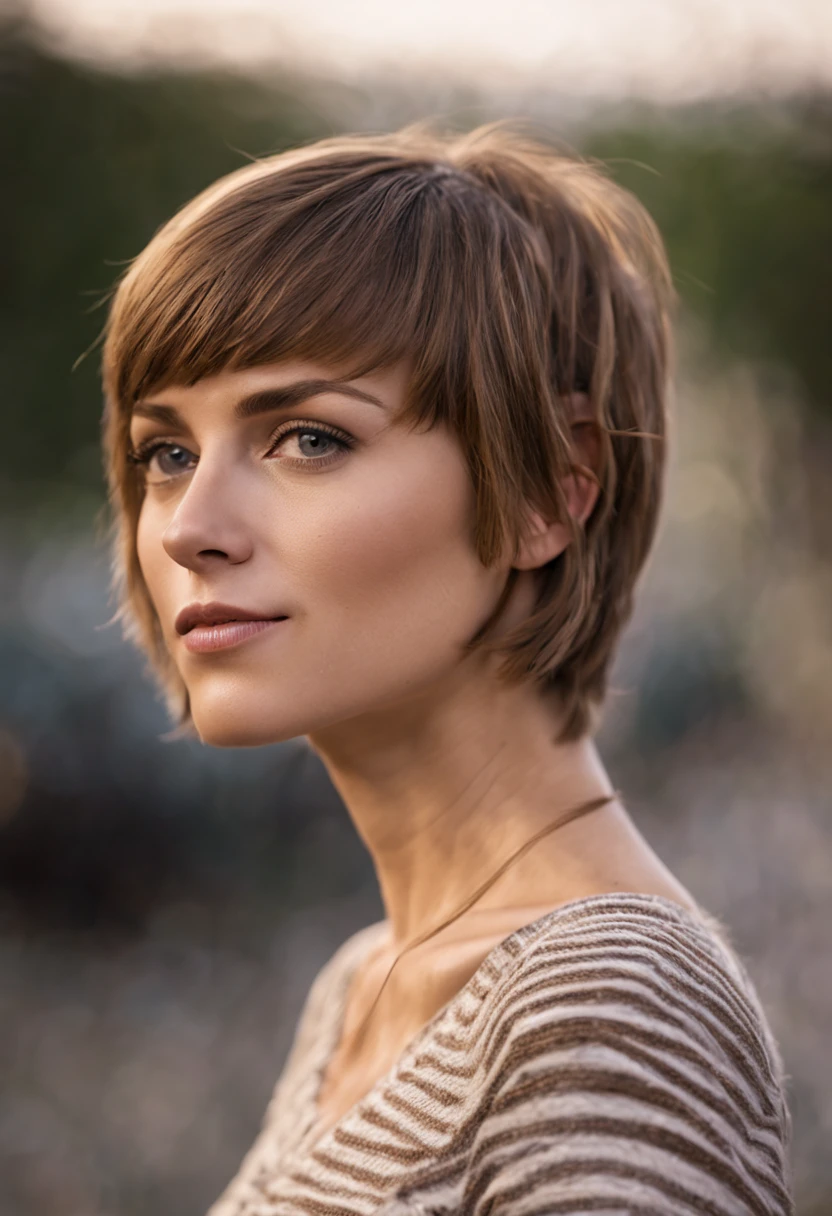
M 32 0 L 81 55 L 690 101 L 832 84 L 832 0 Z

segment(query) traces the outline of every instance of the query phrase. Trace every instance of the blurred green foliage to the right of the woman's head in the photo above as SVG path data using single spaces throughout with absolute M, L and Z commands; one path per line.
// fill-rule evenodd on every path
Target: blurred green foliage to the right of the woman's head
M 583 151 L 648 207 L 715 349 L 787 364 L 832 412 L 832 96 L 647 118 Z

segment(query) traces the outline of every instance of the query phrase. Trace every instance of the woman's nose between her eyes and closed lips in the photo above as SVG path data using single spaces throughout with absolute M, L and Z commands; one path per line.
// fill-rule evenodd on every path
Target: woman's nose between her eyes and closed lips
M 162 535 L 169 557 L 203 573 L 217 562 L 236 565 L 252 554 L 243 495 L 227 466 L 212 468 L 201 460 Z

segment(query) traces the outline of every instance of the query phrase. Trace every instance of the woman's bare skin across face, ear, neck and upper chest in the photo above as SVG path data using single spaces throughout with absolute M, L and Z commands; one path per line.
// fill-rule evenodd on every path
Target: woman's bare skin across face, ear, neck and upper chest
M 321 1131 L 519 927 L 606 891 L 696 908 L 613 800 L 545 837 L 473 908 L 404 955 L 370 1032 L 358 1034 L 404 946 L 535 832 L 612 787 L 591 739 L 556 742 L 551 702 L 532 685 L 497 681 L 495 659 L 460 652 L 512 565 L 519 575 L 502 629 L 527 615 L 535 572 L 569 544 L 569 530 L 529 508 L 518 552 L 483 567 L 459 441 L 444 428 L 395 424 L 404 367 L 352 381 L 352 393 L 336 387 L 235 415 L 251 393 L 333 378 L 299 362 L 224 372 L 151 394 L 142 405 L 156 409 L 137 411 L 131 428 L 134 445 L 169 445 L 147 466 L 137 550 L 199 737 L 254 747 L 305 736 L 376 866 L 388 933 L 350 986 L 319 1096 Z M 579 400 L 564 407 L 579 421 Z M 305 439 L 289 423 L 305 427 Z M 316 423 L 352 446 L 320 433 L 310 441 Z M 577 460 L 591 468 L 591 438 L 575 429 L 574 439 Z M 584 522 L 594 482 L 574 475 L 564 488 Z M 192 653 L 174 623 L 186 604 L 209 601 L 288 620 Z

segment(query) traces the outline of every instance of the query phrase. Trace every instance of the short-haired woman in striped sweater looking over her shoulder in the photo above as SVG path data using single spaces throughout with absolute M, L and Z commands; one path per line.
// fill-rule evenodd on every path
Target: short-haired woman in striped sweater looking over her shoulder
M 249 164 L 119 283 L 128 631 L 182 730 L 308 739 L 387 912 L 212 1216 L 792 1210 L 753 985 L 592 743 L 670 309 L 631 196 L 488 128 Z

